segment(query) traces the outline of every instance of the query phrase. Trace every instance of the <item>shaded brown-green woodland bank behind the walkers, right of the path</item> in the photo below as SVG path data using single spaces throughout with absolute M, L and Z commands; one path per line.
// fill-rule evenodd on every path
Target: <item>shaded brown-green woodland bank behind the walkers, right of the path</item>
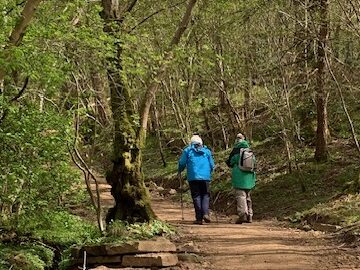
M 291 172 L 283 145 L 275 142 L 267 139 L 253 143 L 258 161 L 257 185 L 252 192 L 256 219 L 301 222 L 316 217 L 318 222 L 343 226 L 359 222 L 360 163 L 351 142 L 338 140 L 330 145 L 332 159 L 326 163 L 313 161 L 314 149 L 302 146 L 297 149 L 297 168 L 293 167 Z M 216 169 L 211 197 L 213 209 L 235 214 L 231 171 L 225 164 L 230 151 L 214 153 Z M 179 155 L 167 153 L 171 166 L 166 170 L 160 168 L 159 159 L 147 159 L 144 169 L 147 178 L 162 183 L 174 181 Z

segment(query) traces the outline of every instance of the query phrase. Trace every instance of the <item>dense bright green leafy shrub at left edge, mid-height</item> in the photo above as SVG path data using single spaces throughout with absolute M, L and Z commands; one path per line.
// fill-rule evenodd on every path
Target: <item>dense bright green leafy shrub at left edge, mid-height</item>
M 69 120 L 51 110 L 24 106 L 9 113 L 0 126 L 0 202 L 9 209 L 3 214 L 57 207 L 71 193 L 79 177 L 70 165 L 69 129 Z

